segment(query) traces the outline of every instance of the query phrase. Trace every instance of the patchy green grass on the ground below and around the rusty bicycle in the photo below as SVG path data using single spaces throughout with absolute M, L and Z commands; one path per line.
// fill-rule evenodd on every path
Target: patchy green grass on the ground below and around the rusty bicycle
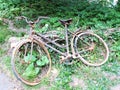
M 7 41 L 6 39 L 13 34 L 9 33 L 6 26 L 1 26 L 0 28 L 0 62 L 2 62 L 2 66 L 7 67 L 5 68 L 7 72 L 11 72 L 10 57 L 5 55 L 7 50 L 4 44 L 5 41 Z M 42 80 L 37 86 L 31 87 L 23 84 L 23 88 L 25 90 L 39 90 L 40 88 L 41 90 L 44 90 L 44 88 L 48 90 L 108 90 L 110 87 L 119 85 L 120 53 L 118 52 L 118 47 L 120 46 L 120 41 L 119 34 L 116 34 L 112 35 L 117 38 L 115 38 L 115 43 L 111 43 L 111 41 L 106 39 L 107 42 L 109 42 L 111 53 L 108 62 L 104 65 L 100 67 L 89 67 L 81 61 L 73 65 L 64 65 L 60 64 L 59 55 L 51 52 L 52 71 L 50 76 Z M 52 75 L 54 76 L 54 73 L 52 74 L 53 68 L 58 71 L 55 78 L 52 77 Z M 11 75 L 13 75 L 13 73 L 11 73 Z M 51 77 L 52 80 L 50 80 Z M 74 82 L 74 78 L 76 82 Z M 76 85 L 70 84 L 73 82 L 76 83 Z

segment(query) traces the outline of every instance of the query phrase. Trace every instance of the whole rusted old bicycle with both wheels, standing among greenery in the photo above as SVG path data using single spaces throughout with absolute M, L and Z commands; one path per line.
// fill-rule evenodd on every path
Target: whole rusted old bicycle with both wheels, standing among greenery
M 90 31 L 70 32 L 68 26 L 72 19 L 60 20 L 65 27 L 64 39 L 55 35 L 46 37 L 34 31 L 35 24 L 48 17 L 40 16 L 36 21 L 28 21 L 25 16 L 18 19 L 25 19 L 30 26 L 30 34 L 14 48 L 11 63 L 15 76 L 25 84 L 37 85 L 49 74 L 51 57 L 48 48 L 60 54 L 60 62 L 65 64 L 79 59 L 88 66 L 100 66 L 108 60 L 109 49 L 105 41 Z

